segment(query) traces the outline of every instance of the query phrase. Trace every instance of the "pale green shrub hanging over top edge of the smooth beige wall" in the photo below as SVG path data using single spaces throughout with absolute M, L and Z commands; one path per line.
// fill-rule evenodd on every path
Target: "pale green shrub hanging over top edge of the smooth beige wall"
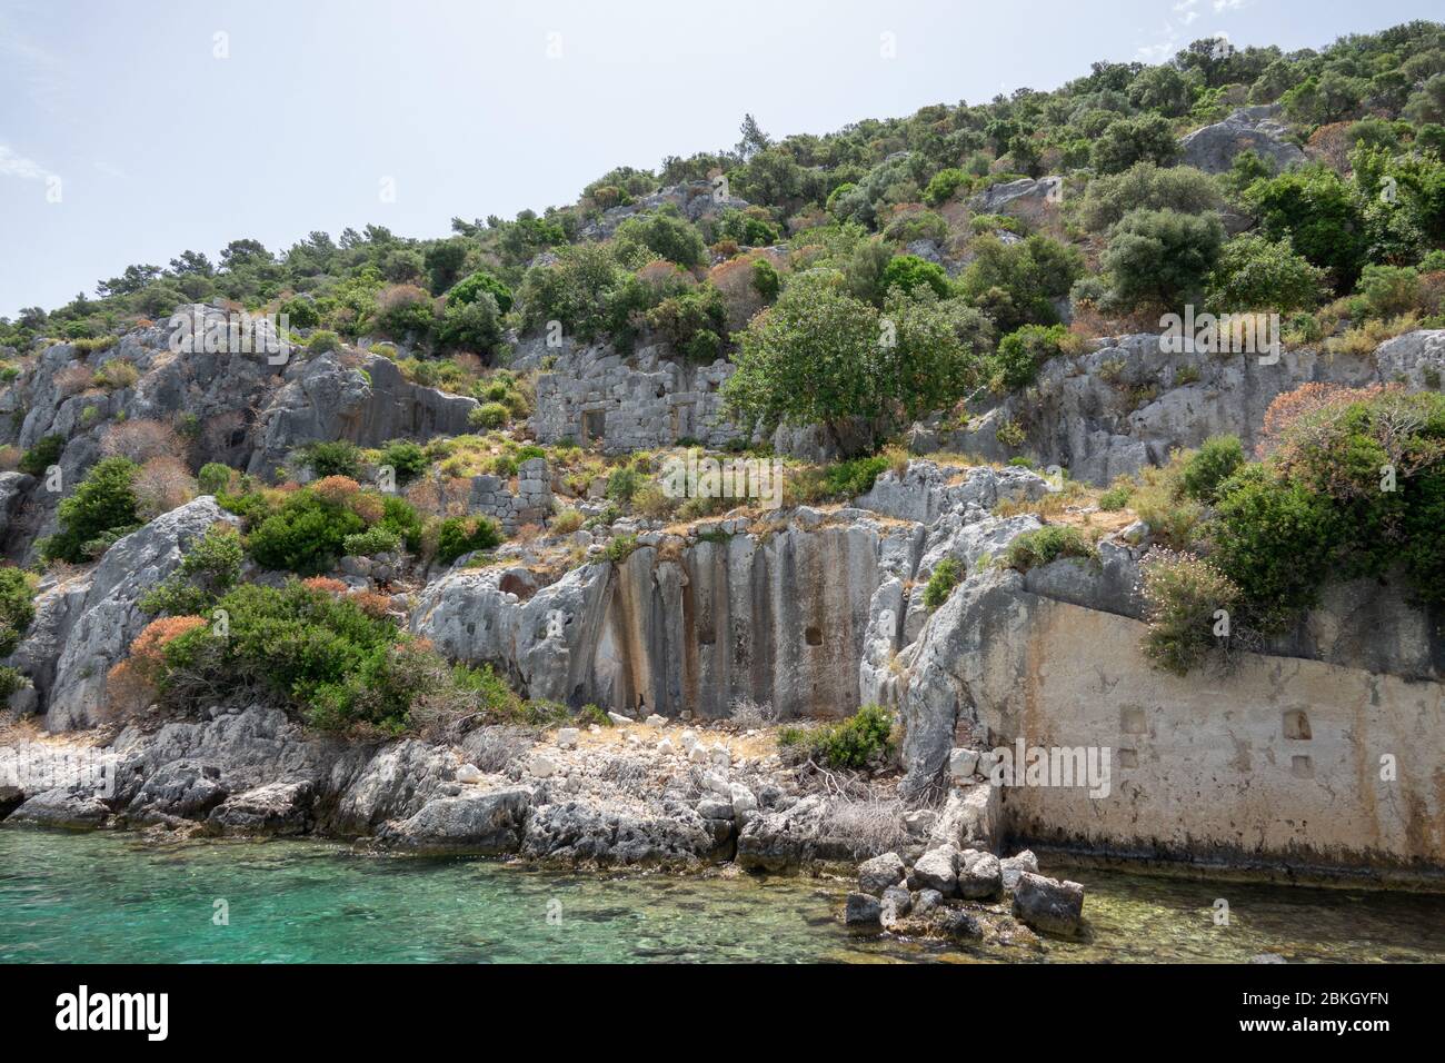
M 1240 589 L 1194 554 L 1155 550 L 1143 561 L 1149 631 L 1143 652 L 1156 667 L 1188 675 L 1230 632 Z M 1224 610 L 1225 616 L 1217 613 Z M 1215 631 L 1220 635 L 1215 635 Z

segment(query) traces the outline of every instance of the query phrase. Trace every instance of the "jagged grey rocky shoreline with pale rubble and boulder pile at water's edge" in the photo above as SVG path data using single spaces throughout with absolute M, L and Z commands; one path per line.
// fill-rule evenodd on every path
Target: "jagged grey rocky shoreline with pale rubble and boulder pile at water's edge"
M 279 709 L 215 706 L 94 735 L 0 736 L 4 829 L 331 837 L 377 855 L 691 875 L 845 876 L 861 861 L 838 913 L 850 927 L 955 942 L 1035 942 L 1017 923 L 1068 936 L 1082 911 L 1082 888 L 1035 875 L 1032 853 L 985 850 L 988 784 L 907 811 L 896 772 L 786 764 L 766 726 L 614 714 L 610 727 L 480 727 L 455 746 L 364 743 L 308 735 Z M 1062 908 L 1061 889 L 1075 891 Z

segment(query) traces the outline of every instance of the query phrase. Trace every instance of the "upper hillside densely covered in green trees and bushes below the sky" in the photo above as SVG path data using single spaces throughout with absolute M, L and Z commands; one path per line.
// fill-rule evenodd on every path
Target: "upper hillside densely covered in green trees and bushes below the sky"
M 1183 135 L 1259 104 L 1277 104 L 1302 163 L 1181 165 Z M 1204 39 L 1163 65 L 1097 62 L 1055 91 L 822 136 L 773 139 L 749 116 L 731 149 L 617 168 L 540 214 L 457 217 L 445 239 L 366 226 L 285 250 L 238 239 L 217 262 L 185 250 L 0 320 L 0 346 L 101 347 L 230 299 L 285 311 L 312 350 L 393 340 L 409 376 L 465 390 L 484 385 L 457 356 L 499 364 L 509 331 L 556 323 L 624 351 L 646 337 L 728 357 L 743 419 L 863 417 L 880 443 L 978 388 L 1026 385 L 1075 337 L 1156 330 L 1183 304 L 1277 311 L 1287 341 L 1345 349 L 1445 323 L 1442 156 L 1438 23 L 1290 54 Z M 1051 208 L 988 211 L 990 189 L 1043 175 L 1062 179 Z M 880 328 L 896 343 L 871 357 Z

